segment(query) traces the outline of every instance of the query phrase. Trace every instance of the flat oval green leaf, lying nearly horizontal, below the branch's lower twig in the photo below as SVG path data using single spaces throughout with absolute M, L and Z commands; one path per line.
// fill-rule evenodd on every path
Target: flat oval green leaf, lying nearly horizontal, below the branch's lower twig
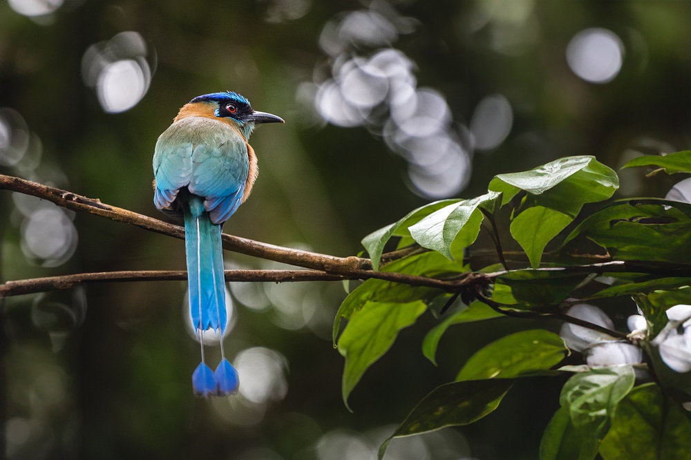
M 456 381 L 509 378 L 546 370 L 569 353 L 560 336 L 544 329 L 516 332 L 482 347 L 456 376 Z

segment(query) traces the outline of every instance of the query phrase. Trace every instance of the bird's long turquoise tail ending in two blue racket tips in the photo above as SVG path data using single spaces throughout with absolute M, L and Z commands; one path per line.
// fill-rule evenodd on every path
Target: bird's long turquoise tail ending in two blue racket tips
M 184 211 L 184 243 L 187 253 L 189 309 L 201 345 L 202 362 L 192 374 L 192 387 L 198 396 L 227 396 L 238 392 L 238 372 L 225 358 L 223 333 L 228 323 L 225 309 L 223 249 L 220 225 L 211 223 L 202 198 L 189 196 Z M 215 329 L 221 349 L 216 372 L 205 363 L 202 332 Z

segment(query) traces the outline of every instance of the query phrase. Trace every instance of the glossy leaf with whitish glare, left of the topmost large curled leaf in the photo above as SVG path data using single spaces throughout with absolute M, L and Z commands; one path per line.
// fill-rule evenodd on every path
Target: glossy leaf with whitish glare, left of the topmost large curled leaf
M 414 225 L 408 227 L 410 235 L 413 236 L 417 244 L 433 251 L 444 254 L 453 259 L 451 254 L 451 243 L 461 229 L 471 220 L 473 214 L 482 220 L 481 211 L 477 207 L 491 203 L 500 198 L 499 193 L 489 192 L 485 195 L 471 200 L 461 200 L 460 202 L 449 204 L 439 209 Z M 477 225 L 477 231 L 480 226 Z M 471 240 L 477 238 L 477 233 L 467 236 Z

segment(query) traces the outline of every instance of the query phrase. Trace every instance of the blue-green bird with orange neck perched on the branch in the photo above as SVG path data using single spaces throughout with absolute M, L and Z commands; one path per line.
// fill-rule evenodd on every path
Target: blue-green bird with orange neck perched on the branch
M 197 396 L 236 394 L 240 384 L 223 349 L 228 318 L 221 227 L 252 192 L 258 167 L 247 141 L 263 123 L 284 121 L 255 111 L 238 93 L 200 95 L 180 108 L 154 148 L 155 207 L 184 218 L 189 314 L 201 345 L 201 362 L 192 374 Z M 209 329 L 220 343 L 215 371 L 205 361 L 202 341 Z

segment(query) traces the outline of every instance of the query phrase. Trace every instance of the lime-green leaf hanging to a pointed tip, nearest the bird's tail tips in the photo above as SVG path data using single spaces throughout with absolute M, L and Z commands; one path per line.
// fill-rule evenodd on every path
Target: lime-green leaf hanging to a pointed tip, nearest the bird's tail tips
M 393 345 L 398 332 L 413 325 L 427 306 L 421 300 L 409 303 L 368 302 L 352 315 L 339 339 L 339 352 L 345 357 L 343 402 L 365 371 Z

